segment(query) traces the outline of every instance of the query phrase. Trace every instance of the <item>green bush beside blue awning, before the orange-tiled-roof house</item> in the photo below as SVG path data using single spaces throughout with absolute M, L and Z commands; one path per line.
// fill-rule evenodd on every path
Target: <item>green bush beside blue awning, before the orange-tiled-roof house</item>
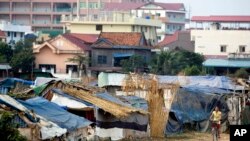
M 142 69 L 147 63 L 142 56 L 132 55 L 129 59 L 122 60 L 121 65 L 124 72 L 134 72 L 138 69 Z

